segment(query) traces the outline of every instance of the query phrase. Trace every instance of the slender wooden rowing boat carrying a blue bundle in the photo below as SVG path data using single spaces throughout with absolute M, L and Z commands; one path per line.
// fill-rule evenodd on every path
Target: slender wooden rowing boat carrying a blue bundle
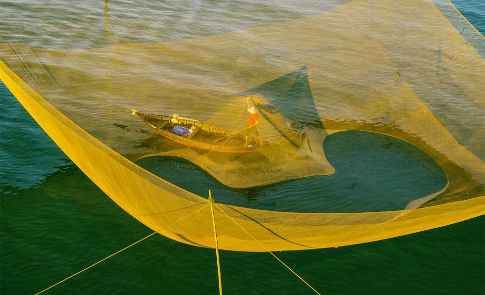
M 252 137 L 249 138 L 249 146 L 246 147 L 244 133 L 217 127 L 213 123 L 182 118 L 177 114 L 171 117 L 146 114 L 135 109 L 132 110 L 132 114 L 142 119 L 161 136 L 189 147 L 219 152 L 251 152 L 264 147 L 264 145 L 256 146 L 257 141 Z M 188 128 L 189 133 L 186 135 L 172 133 L 176 126 Z

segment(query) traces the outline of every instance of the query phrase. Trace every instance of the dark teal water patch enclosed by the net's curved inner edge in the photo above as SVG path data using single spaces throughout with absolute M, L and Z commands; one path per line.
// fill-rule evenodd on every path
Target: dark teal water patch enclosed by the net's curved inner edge
M 421 149 L 394 137 L 363 131 L 329 136 L 324 149 L 337 173 L 270 186 L 223 186 L 194 164 L 175 157 L 148 157 L 136 163 L 194 194 L 217 202 L 290 212 L 369 212 L 399 210 L 436 193 L 446 175 Z

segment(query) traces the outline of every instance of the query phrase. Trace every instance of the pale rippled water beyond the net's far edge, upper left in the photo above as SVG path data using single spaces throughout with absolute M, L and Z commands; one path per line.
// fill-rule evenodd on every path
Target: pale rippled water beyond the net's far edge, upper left
M 116 32 L 121 43 L 167 42 L 289 21 L 350 0 L 302 0 L 298 5 L 292 1 L 257 0 L 108 2 L 86 0 L 69 5 L 46 0 L 2 2 L 2 42 L 43 48 L 112 46 L 112 40 L 105 38 L 108 12 L 109 31 Z

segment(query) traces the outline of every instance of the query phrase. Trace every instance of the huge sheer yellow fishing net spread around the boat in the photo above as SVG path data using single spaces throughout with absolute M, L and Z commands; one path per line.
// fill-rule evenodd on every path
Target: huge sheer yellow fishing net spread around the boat
M 485 213 L 485 43 L 450 8 L 444 1 L 356 0 L 296 20 L 180 41 L 117 39 L 96 49 L 2 43 L 0 78 L 106 195 L 154 231 L 195 246 L 214 247 L 206 196 L 134 160 L 182 157 L 225 186 L 247 188 L 339 173 L 323 148 L 338 132 L 374 132 L 420 148 L 446 181 L 404 210 L 298 213 L 220 203 L 214 210 L 221 249 L 365 243 Z M 247 96 L 268 143 L 248 153 L 179 145 L 116 112 L 178 113 L 238 130 Z

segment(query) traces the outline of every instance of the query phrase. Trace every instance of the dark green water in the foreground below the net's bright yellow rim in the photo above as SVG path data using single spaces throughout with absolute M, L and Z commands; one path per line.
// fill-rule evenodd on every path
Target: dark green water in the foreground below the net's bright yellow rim
M 152 233 L 76 166 L 59 168 L 37 188 L 0 194 L 2 295 L 40 292 Z M 321 294 L 484 294 L 484 224 L 481 216 L 384 241 L 275 254 Z M 312 294 L 269 253 L 220 256 L 224 294 Z M 156 235 L 45 294 L 218 294 L 215 251 Z

